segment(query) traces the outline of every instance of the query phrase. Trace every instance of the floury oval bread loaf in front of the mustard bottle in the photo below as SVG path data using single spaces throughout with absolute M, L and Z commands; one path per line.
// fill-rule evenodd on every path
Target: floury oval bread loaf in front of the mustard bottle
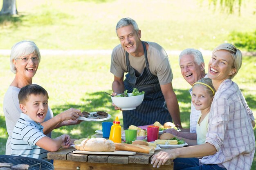
M 94 152 L 114 152 L 115 144 L 111 140 L 104 138 L 85 139 L 81 144 L 75 145 L 77 150 L 94 151 Z

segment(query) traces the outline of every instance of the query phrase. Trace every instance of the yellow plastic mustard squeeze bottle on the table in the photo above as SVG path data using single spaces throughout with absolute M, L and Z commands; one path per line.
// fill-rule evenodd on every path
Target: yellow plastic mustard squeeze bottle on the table
M 113 121 L 113 125 L 111 126 L 109 139 L 115 143 L 121 143 L 121 126 L 118 117 Z

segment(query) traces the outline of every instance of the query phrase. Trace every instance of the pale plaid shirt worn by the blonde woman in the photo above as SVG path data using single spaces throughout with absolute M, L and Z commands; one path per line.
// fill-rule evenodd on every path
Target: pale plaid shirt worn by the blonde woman
M 255 152 L 254 116 L 238 85 L 226 79 L 211 104 L 206 142 L 215 146 L 214 155 L 201 164 L 222 164 L 228 170 L 250 170 Z

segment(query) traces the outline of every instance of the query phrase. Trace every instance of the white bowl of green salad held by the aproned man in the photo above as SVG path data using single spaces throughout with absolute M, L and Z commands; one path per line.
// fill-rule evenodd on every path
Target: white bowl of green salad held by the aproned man
M 124 91 L 124 94 L 118 94 L 114 97 L 111 97 L 113 104 L 122 110 L 133 110 L 139 106 L 144 99 L 144 91 L 139 92 L 137 88 L 134 88 L 132 93 Z

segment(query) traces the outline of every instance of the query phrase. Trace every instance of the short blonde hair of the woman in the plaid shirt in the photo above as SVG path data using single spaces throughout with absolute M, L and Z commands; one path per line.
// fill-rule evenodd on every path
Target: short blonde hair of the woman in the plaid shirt
M 235 75 L 238 73 L 238 70 L 242 66 L 242 52 L 239 49 L 237 49 L 234 45 L 229 44 L 229 43 L 224 43 L 224 44 L 220 44 L 219 46 L 217 46 L 213 50 L 212 55 L 218 50 L 226 50 L 230 53 L 230 55 L 232 57 L 232 60 L 233 60 L 232 68 L 236 69 L 236 73 L 234 73 L 230 77 L 232 79 L 233 77 L 235 77 Z

